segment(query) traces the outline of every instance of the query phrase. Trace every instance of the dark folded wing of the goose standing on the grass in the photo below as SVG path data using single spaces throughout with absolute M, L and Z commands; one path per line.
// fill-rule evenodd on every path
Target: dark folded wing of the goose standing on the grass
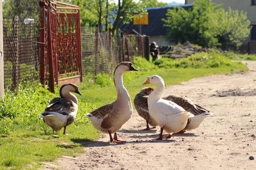
M 56 97 L 52 99 L 49 103 L 49 105 L 46 107 L 44 114 L 47 114 L 48 112 L 58 112 L 63 115 L 68 115 L 75 111 L 75 106 L 73 105 L 72 100 Z

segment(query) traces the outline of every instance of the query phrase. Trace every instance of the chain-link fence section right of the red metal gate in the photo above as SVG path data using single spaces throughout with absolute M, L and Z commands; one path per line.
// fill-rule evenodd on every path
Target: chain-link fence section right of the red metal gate
M 81 28 L 82 73 L 112 74 L 117 64 L 117 54 L 110 32 L 98 32 L 97 28 Z

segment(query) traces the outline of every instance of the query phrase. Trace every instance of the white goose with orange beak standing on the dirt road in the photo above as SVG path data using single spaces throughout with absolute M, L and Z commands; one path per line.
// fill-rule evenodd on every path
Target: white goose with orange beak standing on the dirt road
M 159 138 L 153 140 L 171 138 L 171 134 L 183 130 L 187 125 L 188 118 L 194 115 L 176 103 L 162 99 L 164 80 L 159 75 L 152 75 L 143 84 L 156 84 L 156 90 L 148 96 L 147 100 L 148 112 L 160 126 Z M 163 137 L 163 130 L 169 134 Z

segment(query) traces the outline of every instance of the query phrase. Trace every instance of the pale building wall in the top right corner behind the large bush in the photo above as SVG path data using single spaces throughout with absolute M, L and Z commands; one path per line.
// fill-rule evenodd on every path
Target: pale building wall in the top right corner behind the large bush
M 186 5 L 191 5 L 196 0 L 185 0 Z M 256 0 L 212 0 L 214 3 L 221 3 L 222 7 L 228 10 L 239 10 L 247 12 L 247 18 L 251 22 L 250 40 L 256 41 Z

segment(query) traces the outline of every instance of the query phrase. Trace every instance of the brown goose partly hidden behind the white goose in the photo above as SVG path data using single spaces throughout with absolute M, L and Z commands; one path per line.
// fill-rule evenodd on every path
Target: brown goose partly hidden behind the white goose
M 135 99 L 134 99 L 134 105 L 135 105 L 135 108 L 137 109 L 138 114 L 141 117 L 143 117 L 147 123 L 147 128 L 143 130 L 150 130 L 147 120 L 150 120 L 151 122 L 150 125 L 156 126 L 155 120 L 153 120 L 150 117 L 150 114 L 148 113 L 148 105 L 147 105 L 148 95 L 150 95 L 151 92 L 153 91 L 154 91 L 154 88 L 145 87 L 135 96 Z M 200 105 L 193 103 L 193 101 L 188 99 L 188 97 L 169 95 L 162 98 L 165 100 L 172 101 L 177 105 L 179 105 L 180 107 L 184 108 L 185 111 L 194 114 L 194 117 L 191 117 L 188 119 L 187 125 L 179 133 L 185 133 L 187 130 L 196 129 L 200 126 L 201 122 L 203 122 L 205 118 L 209 116 L 213 116 L 213 113 L 209 112 L 207 109 L 201 107 Z

